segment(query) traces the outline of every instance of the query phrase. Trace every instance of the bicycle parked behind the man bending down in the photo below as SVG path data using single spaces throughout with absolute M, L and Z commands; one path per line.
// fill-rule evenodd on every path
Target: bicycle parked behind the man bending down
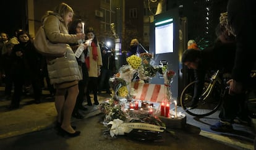
M 180 102 L 187 114 L 195 117 L 205 117 L 215 113 L 220 108 L 224 94 L 227 91 L 226 88 L 228 88 L 220 76 L 220 70 L 216 70 L 210 80 L 205 81 L 202 95 L 194 109 L 188 109 L 188 106 L 194 96 L 194 87 L 197 81 L 192 81 L 184 88 Z

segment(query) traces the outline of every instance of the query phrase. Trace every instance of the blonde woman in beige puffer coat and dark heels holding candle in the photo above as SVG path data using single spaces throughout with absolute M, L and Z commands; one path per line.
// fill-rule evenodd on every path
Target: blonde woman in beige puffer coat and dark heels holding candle
M 62 2 L 53 11 L 47 11 L 43 17 L 45 34 L 53 43 L 67 43 L 66 55 L 63 57 L 47 57 L 48 72 L 51 84 L 56 88 L 55 107 L 58 113 L 57 127 L 62 135 L 79 136 L 70 125 L 72 111 L 79 94 L 78 83 L 82 75 L 75 59 L 75 54 L 68 43 L 76 43 L 85 39 L 85 34 L 69 35 L 67 25 L 72 21 L 73 9 Z M 65 98 L 65 94 L 67 96 Z

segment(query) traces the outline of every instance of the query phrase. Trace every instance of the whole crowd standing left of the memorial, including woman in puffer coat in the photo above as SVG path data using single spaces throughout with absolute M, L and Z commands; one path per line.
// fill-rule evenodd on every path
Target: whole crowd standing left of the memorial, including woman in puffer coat
M 5 86 L 1 100 L 11 101 L 7 109 L 19 109 L 23 94 L 27 93 L 32 93 L 35 104 L 40 104 L 42 90 L 47 86 L 55 99 L 56 128 L 62 135 L 72 137 L 80 135 L 80 131 L 75 131 L 71 125 L 71 117 L 83 119 L 79 111 L 87 110 L 83 101 L 87 101 L 88 107 L 99 105 L 98 89 L 111 93 L 108 78 L 115 69 L 112 49 L 100 47 L 93 28 L 83 31 L 83 21 L 73 20 L 73 15 L 74 10 L 62 2 L 42 17 L 48 40 L 67 43 L 64 57 L 38 53 L 25 30 L 17 30 L 13 38 L 4 32 L 0 36 L 0 81 Z M 83 52 L 76 57 L 80 46 Z

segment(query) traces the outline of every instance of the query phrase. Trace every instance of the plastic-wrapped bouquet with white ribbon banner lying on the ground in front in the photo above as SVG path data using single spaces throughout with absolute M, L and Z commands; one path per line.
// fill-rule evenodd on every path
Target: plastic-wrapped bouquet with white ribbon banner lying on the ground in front
M 148 113 L 147 110 L 128 110 L 127 102 L 113 99 L 100 104 L 105 113 L 103 124 L 111 137 L 127 135 L 134 140 L 163 141 L 165 125 L 161 120 Z

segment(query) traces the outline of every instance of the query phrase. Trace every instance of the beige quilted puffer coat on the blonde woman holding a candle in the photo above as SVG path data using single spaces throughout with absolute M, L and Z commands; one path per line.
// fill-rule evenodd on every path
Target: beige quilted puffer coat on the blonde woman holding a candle
M 64 20 L 56 14 L 48 15 L 45 20 L 45 33 L 52 43 L 75 43 L 78 40 L 75 35 L 69 35 Z M 66 56 L 48 61 L 51 84 L 82 80 L 75 54 L 69 44 L 67 44 L 66 49 Z

